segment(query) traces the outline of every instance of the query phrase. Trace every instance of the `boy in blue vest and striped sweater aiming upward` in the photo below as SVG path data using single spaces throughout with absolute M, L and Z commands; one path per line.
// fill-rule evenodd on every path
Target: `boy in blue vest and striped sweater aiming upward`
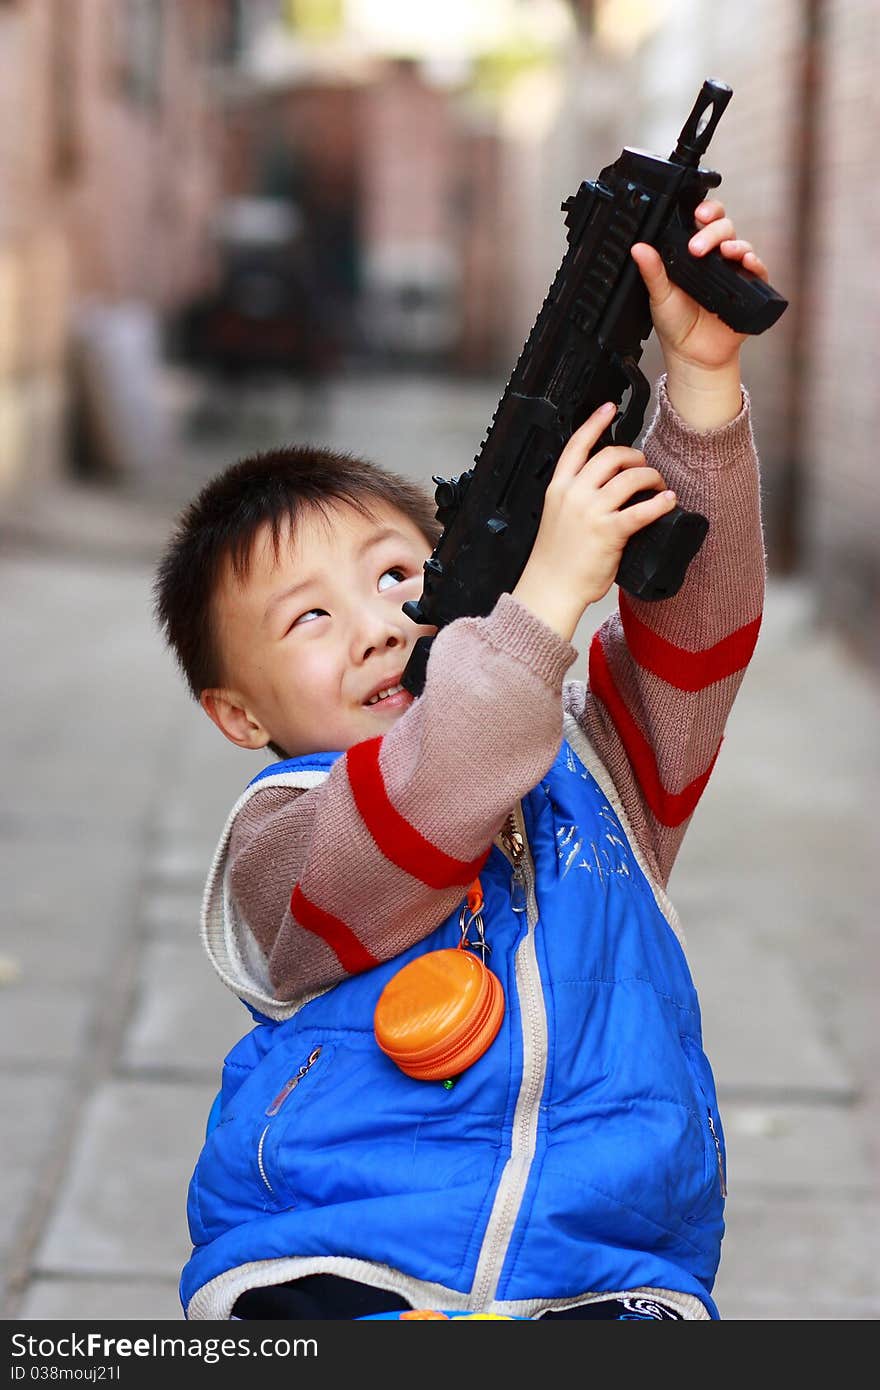
M 694 254 L 766 278 L 717 202 Z M 257 1020 L 189 1188 L 188 1318 L 395 1309 L 717 1318 L 724 1141 L 665 892 L 763 600 L 742 339 L 633 250 L 663 350 L 644 455 L 570 439 L 530 560 L 400 676 L 437 538 L 403 480 L 323 450 L 243 460 L 184 514 L 157 613 L 202 706 L 271 748 L 229 817 L 203 940 Z M 667 491 L 673 484 L 676 493 Z M 652 496 L 626 510 L 633 493 Z M 628 537 L 709 517 L 678 595 L 594 637 Z M 380 1049 L 407 962 L 460 941 L 473 880 L 505 1015 L 452 1084 Z

